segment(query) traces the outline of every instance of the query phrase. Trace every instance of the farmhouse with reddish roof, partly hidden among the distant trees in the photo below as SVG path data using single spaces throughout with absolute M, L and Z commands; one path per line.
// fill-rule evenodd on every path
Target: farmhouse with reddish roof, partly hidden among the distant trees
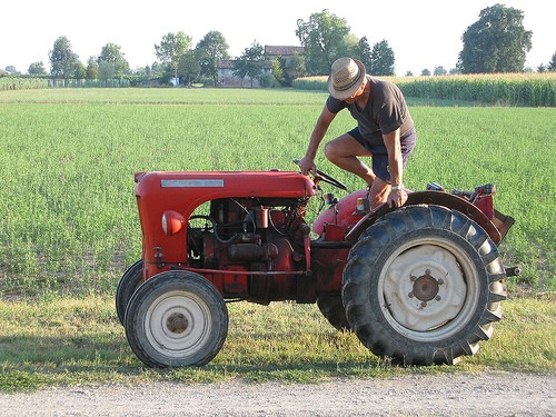
M 302 54 L 302 47 L 288 47 L 288 46 L 265 46 L 265 64 L 262 67 L 264 75 L 271 75 L 271 61 L 276 58 L 282 58 L 286 63 L 286 72 L 291 75 L 291 60 L 295 54 Z M 218 82 L 220 87 L 251 87 L 251 80 L 246 77 L 244 80 L 234 76 L 236 60 L 220 60 L 218 61 Z M 252 80 L 252 87 L 259 87 L 258 80 Z

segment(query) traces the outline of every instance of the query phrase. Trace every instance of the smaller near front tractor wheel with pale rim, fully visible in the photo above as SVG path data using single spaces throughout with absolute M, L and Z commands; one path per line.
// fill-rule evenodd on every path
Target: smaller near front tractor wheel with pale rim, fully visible
M 220 351 L 228 309 L 216 287 L 188 271 L 161 272 L 141 285 L 126 310 L 126 336 L 151 367 L 200 366 Z

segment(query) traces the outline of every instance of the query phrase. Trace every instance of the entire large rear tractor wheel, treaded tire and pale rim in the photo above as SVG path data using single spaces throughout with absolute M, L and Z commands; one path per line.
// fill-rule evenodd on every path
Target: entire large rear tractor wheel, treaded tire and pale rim
M 374 354 L 454 364 L 493 334 L 505 270 L 488 235 L 458 211 L 407 207 L 370 226 L 344 271 L 346 315 Z

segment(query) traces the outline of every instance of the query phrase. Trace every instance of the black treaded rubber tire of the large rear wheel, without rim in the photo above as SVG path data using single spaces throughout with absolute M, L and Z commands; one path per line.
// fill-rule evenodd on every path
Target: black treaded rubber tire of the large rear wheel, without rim
M 441 234 L 447 236 L 446 239 L 454 236 L 456 241 L 463 239 L 481 264 L 476 272 L 480 282 L 476 285 L 481 288 L 479 292 L 485 304 L 479 302 L 469 314 L 473 316 L 469 322 L 445 340 L 416 341 L 397 334 L 384 319 L 383 308 L 376 307 L 378 300 L 371 299 L 371 287 L 378 280 L 379 267 L 375 262 L 386 257 L 385 248 L 403 240 L 406 235 L 415 236 L 416 231 L 430 236 Z M 411 232 L 414 235 L 408 235 Z M 354 245 L 344 271 L 342 298 L 351 329 L 374 354 L 394 356 L 395 361 L 405 365 L 455 364 L 463 355 L 474 355 L 479 348 L 478 341 L 490 338 L 492 322 L 500 320 L 500 301 L 506 298 L 504 278 L 505 270 L 496 246 L 473 220 L 445 207 L 410 206 L 386 215 Z M 489 288 L 490 282 L 494 290 Z

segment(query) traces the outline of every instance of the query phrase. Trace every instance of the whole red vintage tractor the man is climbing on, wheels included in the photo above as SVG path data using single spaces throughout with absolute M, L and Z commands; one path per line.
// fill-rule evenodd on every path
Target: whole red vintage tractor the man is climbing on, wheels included
M 505 278 L 517 274 L 498 252 L 514 219 L 494 208 L 494 185 L 429 183 L 401 208 L 368 210 L 366 190 L 324 193 L 321 182 L 346 187 L 321 171 L 135 179 L 142 259 L 123 274 L 116 308 L 152 367 L 210 361 L 227 337 L 226 301 L 237 300 L 317 302 L 379 357 L 454 364 L 490 338 Z M 311 199 L 321 211 L 312 228 Z

